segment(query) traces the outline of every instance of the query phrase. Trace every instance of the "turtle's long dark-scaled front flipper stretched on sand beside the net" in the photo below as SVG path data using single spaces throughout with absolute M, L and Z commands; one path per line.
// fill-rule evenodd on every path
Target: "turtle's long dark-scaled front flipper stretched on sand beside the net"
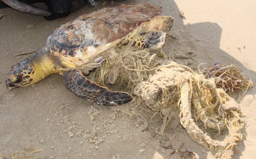
M 134 98 L 125 92 L 114 92 L 93 83 L 78 69 L 63 72 L 65 86 L 74 94 L 98 105 L 123 105 L 130 103 Z

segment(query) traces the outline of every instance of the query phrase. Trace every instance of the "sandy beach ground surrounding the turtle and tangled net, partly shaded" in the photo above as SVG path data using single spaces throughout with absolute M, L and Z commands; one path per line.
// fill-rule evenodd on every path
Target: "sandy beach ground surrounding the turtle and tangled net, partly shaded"
M 107 3 L 106 3 L 107 2 Z M 214 152 L 195 143 L 174 117 L 163 136 L 156 128 L 161 117 L 140 107 L 137 118 L 125 112 L 136 104 L 121 107 L 93 105 L 72 94 L 54 74 L 30 87 L 7 90 L 6 71 L 29 55 L 14 56 L 41 49 L 46 38 L 64 22 L 119 2 L 100 1 L 96 8 L 85 5 L 68 17 L 46 21 L 43 17 L 20 13 L 10 8 L 0 20 L 0 153 L 38 158 L 180 158 L 186 149 L 200 158 L 215 158 Z M 256 82 L 255 37 L 256 3 L 202 0 L 128 0 L 125 4 L 152 2 L 163 6 L 162 15 L 175 18 L 165 39 L 163 51 L 170 60 L 196 69 L 200 63 L 233 63 Z M 104 5 L 102 5 L 104 4 Z M 33 27 L 32 27 L 33 26 Z M 118 86 L 110 89 L 117 90 Z M 245 117 L 245 138 L 234 158 L 254 158 L 256 152 L 256 89 L 247 91 L 239 105 Z M 214 135 L 215 139 L 224 139 Z M 217 134 L 217 133 L 216 133 Z M 172 148 L 181 152 L 174 153 Z M 166 148 L 168 147 L 168 148 Z M 188 153 L 187 153 L 188 154 Z

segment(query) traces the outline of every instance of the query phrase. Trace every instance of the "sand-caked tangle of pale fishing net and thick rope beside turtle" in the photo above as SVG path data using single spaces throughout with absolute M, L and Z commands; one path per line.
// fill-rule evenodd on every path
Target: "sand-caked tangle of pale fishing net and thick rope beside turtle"
M 189 136 L 216 151 L 216 157 L 230 158 L 234 146 L 241 142 L 243 115 L 226 91 L 247 90 L 252 82 L 234 65 L 215 65 L 196 73 L 167 60 L 160 50 L 140 50 L 129 43 L 109 49 L 86 68 L 85 74 L 91 71 L 87 78 L 100 85 L 127 86 L 139 103 L 159 112 L 163 125 L 157 132 L 161 135 L 168 133 L 165 128 L 173 118 L 172 112 L 178 111 Z M 213 129 L 220 134 L 227 129 L 228 136 L 223 141 L 211 139 L 199 128 L 198 121 L 204 123 L 204 131 Z

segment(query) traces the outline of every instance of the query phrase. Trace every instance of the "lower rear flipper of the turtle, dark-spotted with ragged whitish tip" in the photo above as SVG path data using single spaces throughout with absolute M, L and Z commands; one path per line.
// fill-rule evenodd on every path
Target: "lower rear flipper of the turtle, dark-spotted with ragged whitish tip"
M 141 49 L 158 49 L 161 48 L 163 43 L 165 43 L 165 34 L 162 31 L 147 31 L 139 33 L 135 36 L 132 45 L 139 47 Z M 132 40 L 133 36 L 128 37 L 128 41 Z

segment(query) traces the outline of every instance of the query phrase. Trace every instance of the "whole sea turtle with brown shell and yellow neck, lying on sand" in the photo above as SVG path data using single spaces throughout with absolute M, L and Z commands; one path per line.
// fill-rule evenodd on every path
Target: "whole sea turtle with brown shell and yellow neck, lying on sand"
M 63 75 L 67 88 L 98 105 L 122 105 L 133 101 L 125 92 L 110 91 L 93 83 L 77 69 L 94 62 L 109 48 L 131 42 L 142 49 L 163 45 L 173 25 L 171 16 L 157 16 L 161 7 L 150 3 L 119 5 L 85 14 L 61 25 L 43 49 L 11 67 L 8 89 L 31 85 L 54 73 Z M 94 62 L 95 63 L 95 62 Z

